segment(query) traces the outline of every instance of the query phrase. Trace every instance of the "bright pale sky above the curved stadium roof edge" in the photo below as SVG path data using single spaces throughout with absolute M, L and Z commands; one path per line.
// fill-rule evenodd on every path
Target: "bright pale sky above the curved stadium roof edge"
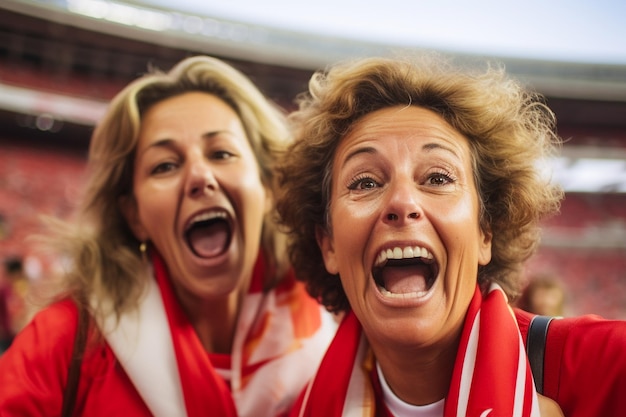
M 467 52 L 626 64 L 624 0 L 146 0 L 300 32 Z

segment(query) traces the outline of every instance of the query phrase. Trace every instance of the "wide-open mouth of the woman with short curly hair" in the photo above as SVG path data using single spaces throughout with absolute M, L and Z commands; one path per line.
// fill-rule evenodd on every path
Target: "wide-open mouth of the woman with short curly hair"
M 425 248 L 408 246 L 382 251 L 372 270 L 381 294 L 387 297 L 419 297 L 435 283 L 439 267 Z

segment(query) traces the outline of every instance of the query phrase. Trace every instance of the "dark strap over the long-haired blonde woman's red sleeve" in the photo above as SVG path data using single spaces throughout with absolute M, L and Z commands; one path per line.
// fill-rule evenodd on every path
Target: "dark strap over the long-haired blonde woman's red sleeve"
M 76 395 L 78 393 L 78 382 L 80 381 L 80 365 L 83 361 L 85 346 L 87 345 L 88 313 L 82 303 L 78 306 L 78 326 L 76 337 L 74 338 L 74 348 L 70 365 L 67 372 L 67 384 L 63 392 L 62 417 L 71 417 L 76 405 Z

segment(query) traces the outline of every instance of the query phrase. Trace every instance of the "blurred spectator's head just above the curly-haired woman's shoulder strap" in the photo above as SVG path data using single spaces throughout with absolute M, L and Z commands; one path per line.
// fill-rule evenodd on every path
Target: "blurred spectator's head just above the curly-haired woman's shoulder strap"
M 565 315 L 565 288 L 554 275 L 538 274 L 530 278 L 517 307 L 529 313 L 543 316 L 562 317 Z

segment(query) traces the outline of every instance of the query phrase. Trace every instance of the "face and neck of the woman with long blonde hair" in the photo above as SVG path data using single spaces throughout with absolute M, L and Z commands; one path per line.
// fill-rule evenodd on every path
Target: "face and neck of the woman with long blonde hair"
M 236 113 L 202 92 L 152 106 L 139 134 L 133 190 L 134 199 L 122 202 L 122 209 L 135 236 L 150 241 L 163 256 L 205 348 L 229 352 L 269 207 Z M 211 213 L 226 218 L 215 234 L 220 244 L 199 256 L 186 231 L 196 216 Z

